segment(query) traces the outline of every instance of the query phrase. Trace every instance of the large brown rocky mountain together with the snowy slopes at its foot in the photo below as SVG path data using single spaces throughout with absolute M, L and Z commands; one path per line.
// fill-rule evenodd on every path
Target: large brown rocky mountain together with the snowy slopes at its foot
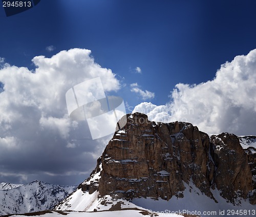
M 255 208 L 256 137 L 209 138 L 191 123 L 124 118 L 91 176 L 56 210 Z

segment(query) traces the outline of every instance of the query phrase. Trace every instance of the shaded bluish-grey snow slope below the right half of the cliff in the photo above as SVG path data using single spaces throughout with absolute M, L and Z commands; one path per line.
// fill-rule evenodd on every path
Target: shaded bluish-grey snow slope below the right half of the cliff
M 254 216 L 249 215 L 249 212 L 256 214 L 256 206 L 251 205 L 249 200 L 237 198 L 236 205 L 229 203 L 220 196 L 220 191 L 216 188 L 211 190 L 216 203 L 213 199 L 208 198 L 203 194 L 192 182 L 189 184 L 184 183 L 185 190 L 183 191 L 183 198 L 173 197 L 169 201 L 165 201 L 161 198 L 158 200 L 151 198 L 135 198 L 132 203 L 153 210 L 154 212 L 173 212 L 181 214 L 194 214 L 201 217 L 206 216 L 232 216 L 228 210 L 247 210 L 247 214 L 233 214 L 233 216 Z M 220 213 L 222 211 L 222 213 Z M 224 211 L 224 212 L 223 212 Z

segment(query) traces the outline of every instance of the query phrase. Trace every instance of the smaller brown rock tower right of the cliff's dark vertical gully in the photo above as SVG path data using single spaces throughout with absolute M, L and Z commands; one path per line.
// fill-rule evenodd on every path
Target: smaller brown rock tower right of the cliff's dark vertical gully
M 221 190 L 221 196 L 231 202 L 236 196 L 246 199 L 248 192 L 253 189 L 252 173 L 239 138 L 222 133 L 211 136 L 211 142 L 215 149 L 214 183 Z

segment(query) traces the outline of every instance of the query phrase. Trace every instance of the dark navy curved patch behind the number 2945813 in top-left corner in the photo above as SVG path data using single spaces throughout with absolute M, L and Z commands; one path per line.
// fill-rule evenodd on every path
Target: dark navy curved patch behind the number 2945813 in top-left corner
M 2 0 L 6 16 L 22 13 L 36 6 L 41 0 Z

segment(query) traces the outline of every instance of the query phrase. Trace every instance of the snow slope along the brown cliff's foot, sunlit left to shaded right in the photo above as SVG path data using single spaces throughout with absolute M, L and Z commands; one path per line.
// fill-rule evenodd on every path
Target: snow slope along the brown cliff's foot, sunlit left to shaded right
M 100 178 L 100 171 L 95 172 L 90 179 L 86 180 L 83 184 L 95 184 L 97 185 L 98 179 Z M 123 199 L 115 199 L 111 196 L 104 196 L 103 198 L 98 198 L 98 191 L 96 190 L 92 194 L 89 191 L 82 191 L 82 189 L 77 189 L 68 198 L 63 200 L 58 206 L 55 207 L 56 210 L 74 210 L 74 211 L 104 211 L 107 214 L 108 210 L 124 210 L 124 209 L 141 209 L 148 210 L 150 214 L 153 212 L 159 213 L 159 215 L 164 214 L 167 216 L 173 214 L 193 214 L 195 216 L 229 216 L 228 210 L 247 210 L 248 212 L 255 212 L 256 206 L 251 205 L 247 200 L 242 198 L 237 198 L 236 205 L 228 203 L 225 199 L 220 196 L 220 191 L 218 189 L 211 190 L 214 199 L 208 198 L 203 194 L 193 182 L 185 185 L 185 190 L 183 193 L 183 198 L 173 197 L 169 201 L 162 200 L 161 198 L 135 198 L 132 201 L 126 201 Z M 254 210 L 254 211 L 253 211 Z M 220 211 L 222 213 L 220 214 Z M 224 211 L 224 212 L 223 212 Z M 102 212 L 103 213 L 103 212 Z M 113 212 L 111 212 L 113 213 Z M 110 215 L 104 216 L 114 216 Z M 123 213 L 125 216 L 125 213 Z M 132 213 L 131 213 L 132 214 Z M 231 213 L 230 213 L 231 214 Z M 52 216 L 52 215 L 49 215 Z M 73 216 L 73 215 L 72 215 Z M 74 215 L 75 216 L 75 215 Z M 87 216 L 87 215 L 83 215 Z M 93 215 L 91 215 L 93 216 Z M 95 216 L 98 216 L 95 214 Z M 137 215 L 135 215 L 137 216 Z M 138 215 L 140 216 L 140 215 Z M 240 215 L 247 216 L 247 215 Z

